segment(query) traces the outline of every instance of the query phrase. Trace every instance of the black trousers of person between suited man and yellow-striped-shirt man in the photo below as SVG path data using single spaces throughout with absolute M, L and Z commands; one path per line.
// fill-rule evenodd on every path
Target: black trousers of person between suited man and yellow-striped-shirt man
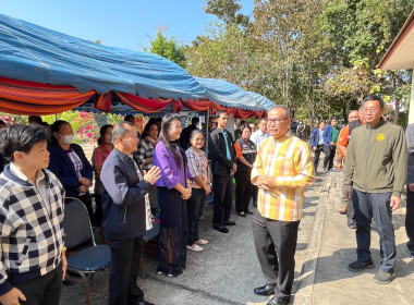
M 251 203 L 253 184 L 251 182 L 251 171 L 236 171 L 235 179 L 235 210 L 247 212 Z

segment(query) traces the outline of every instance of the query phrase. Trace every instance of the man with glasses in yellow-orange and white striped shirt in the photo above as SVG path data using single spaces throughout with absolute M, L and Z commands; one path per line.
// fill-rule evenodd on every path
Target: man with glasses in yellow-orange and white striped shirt
M 302 219 L 305 186 L 315 181 L 309 148 L 289 132 L 290 110 L 270 109 L 265 138 L 252 170 L 252 183 L 259 187 L 253 218 L 253 235 L 266 285 L 259 295 L 275 296 L 267 305 L 289 304 L 294 279 L 297 228 Z

